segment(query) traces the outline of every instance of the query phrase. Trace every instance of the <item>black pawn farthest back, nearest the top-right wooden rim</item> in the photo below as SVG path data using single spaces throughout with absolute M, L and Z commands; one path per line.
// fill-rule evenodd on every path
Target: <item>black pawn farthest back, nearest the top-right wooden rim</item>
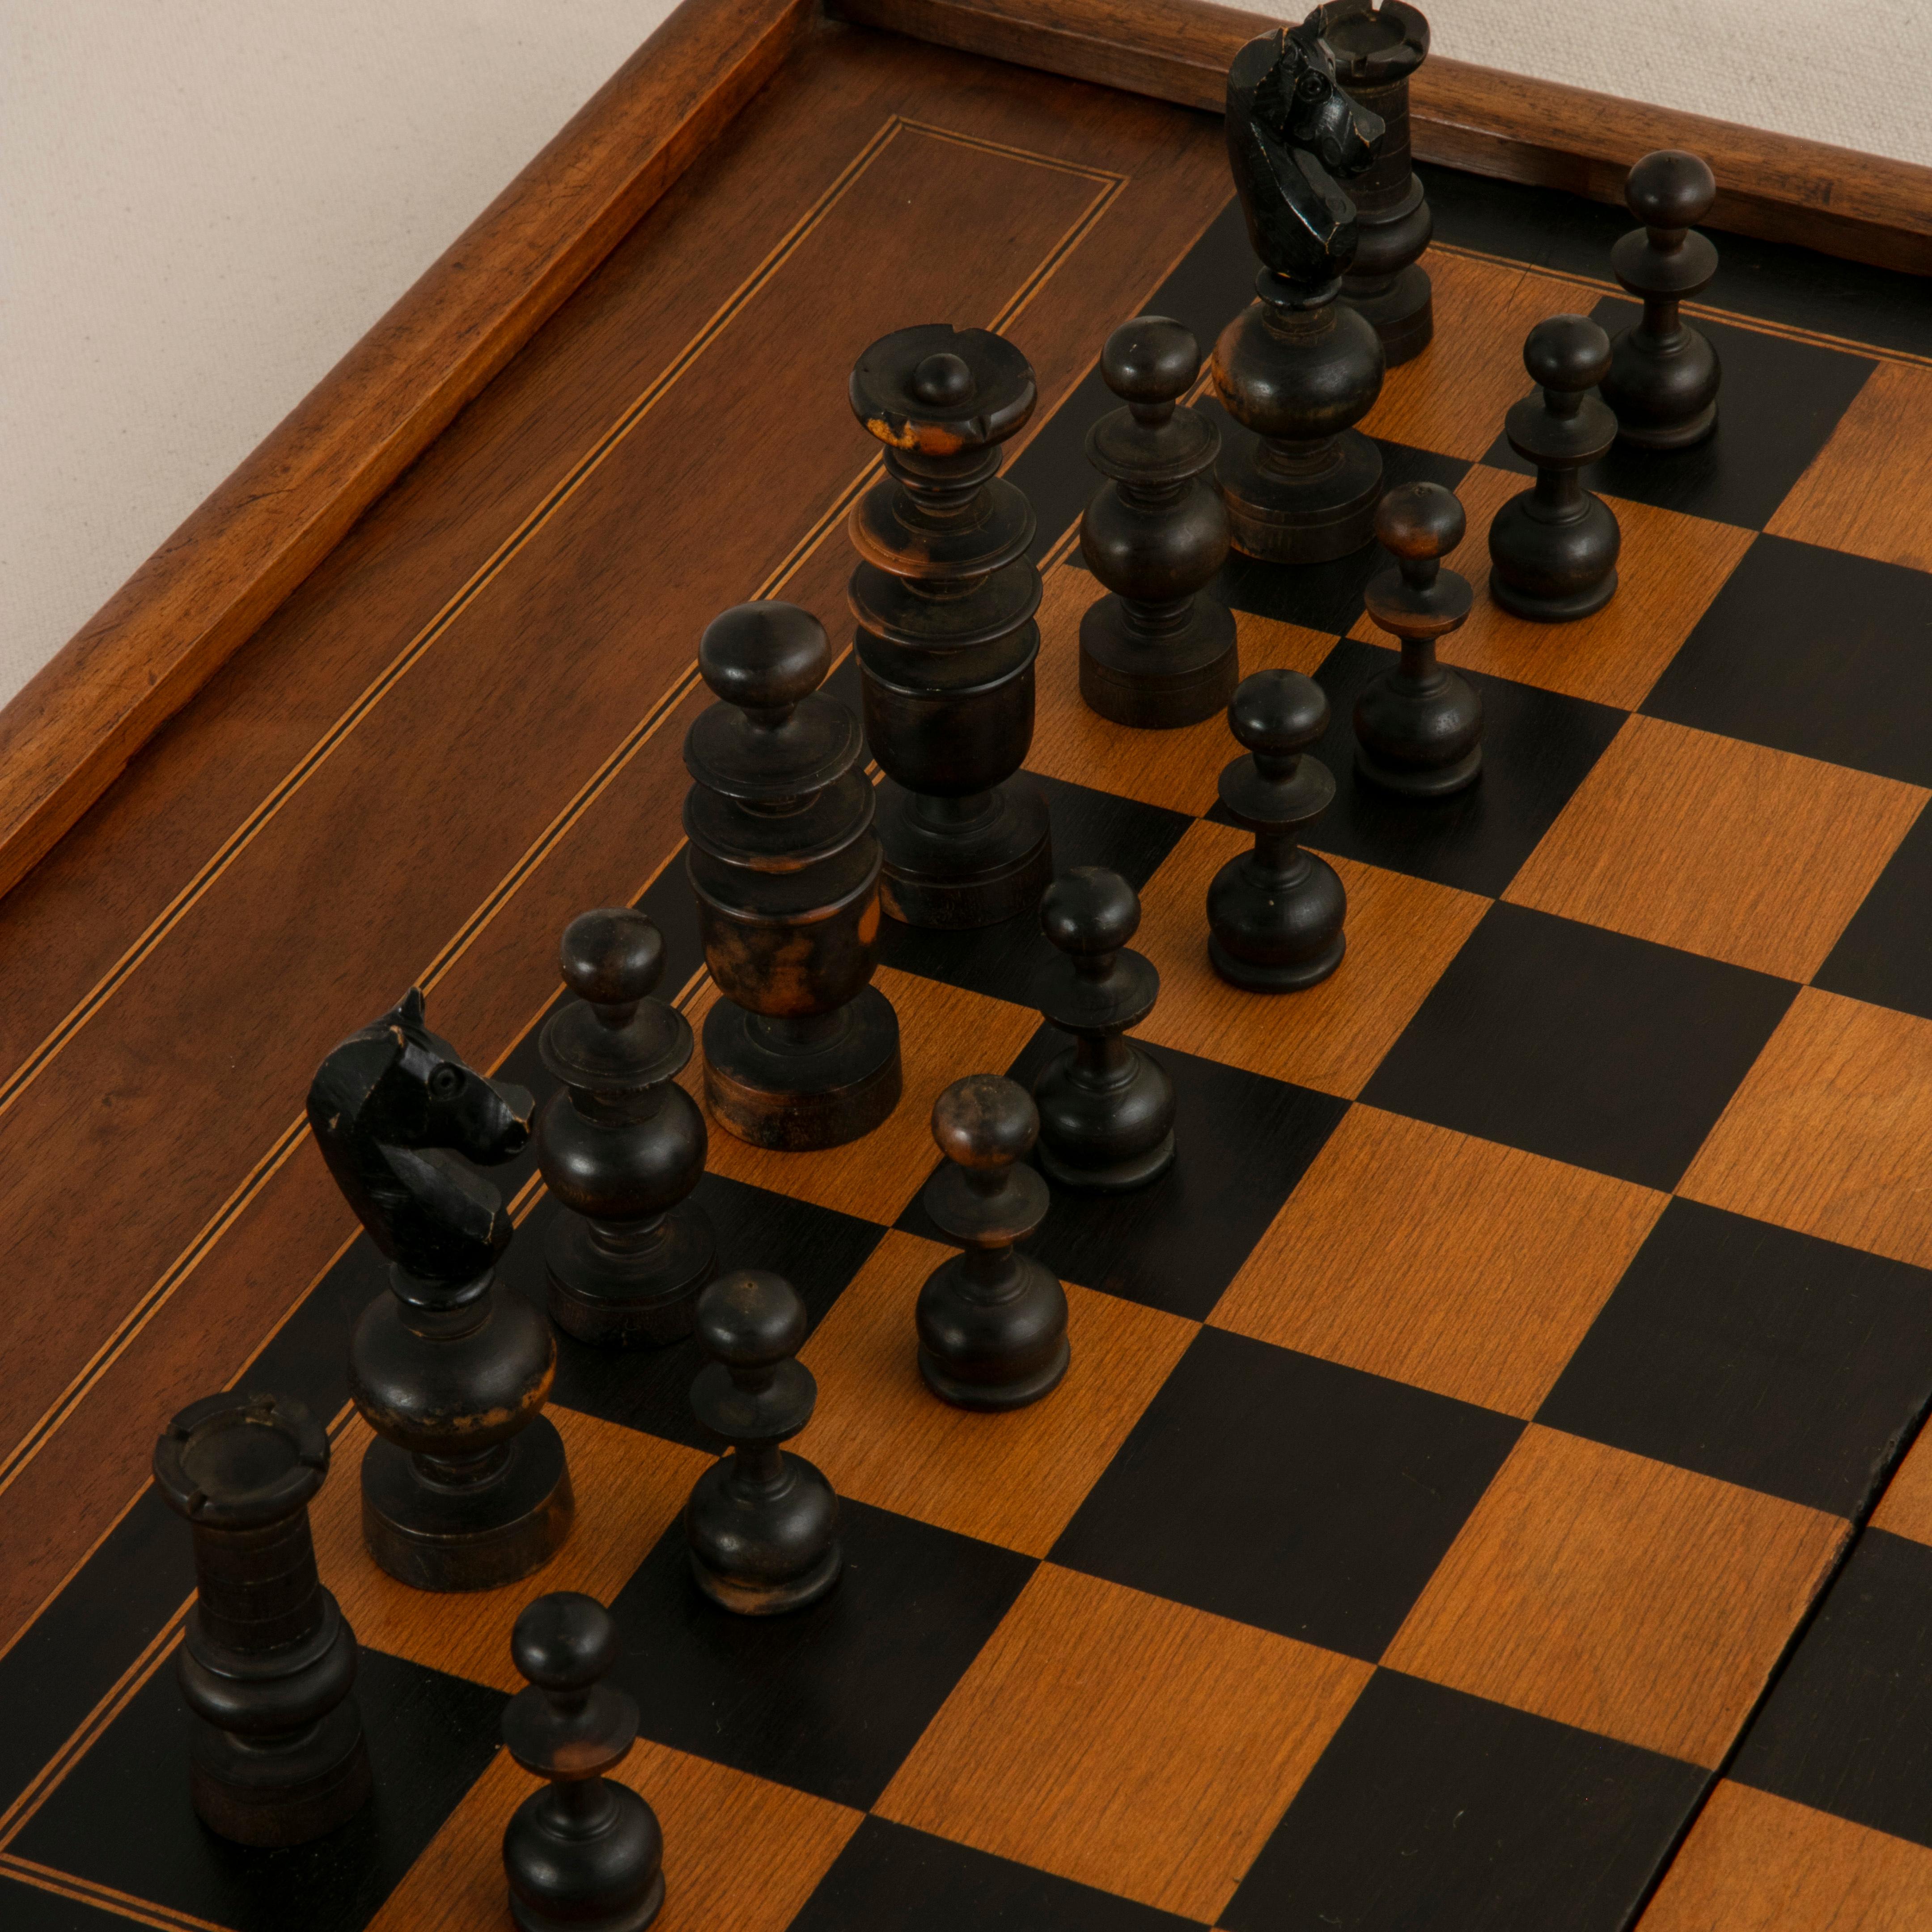
M 1617 242 L 1609 265 L 1644 319 L 1611 338 L 1604 402 L 1625 442 L 1683 450 L 1718 427 L 1718 352 L 1679 313 L 1718 272 L 1718 249 L 1690 226 L 1710 214 L 1718 178 L 1696 155 L 1665 147 L 1631 168 L 1623 199 L 1644 226 Z

